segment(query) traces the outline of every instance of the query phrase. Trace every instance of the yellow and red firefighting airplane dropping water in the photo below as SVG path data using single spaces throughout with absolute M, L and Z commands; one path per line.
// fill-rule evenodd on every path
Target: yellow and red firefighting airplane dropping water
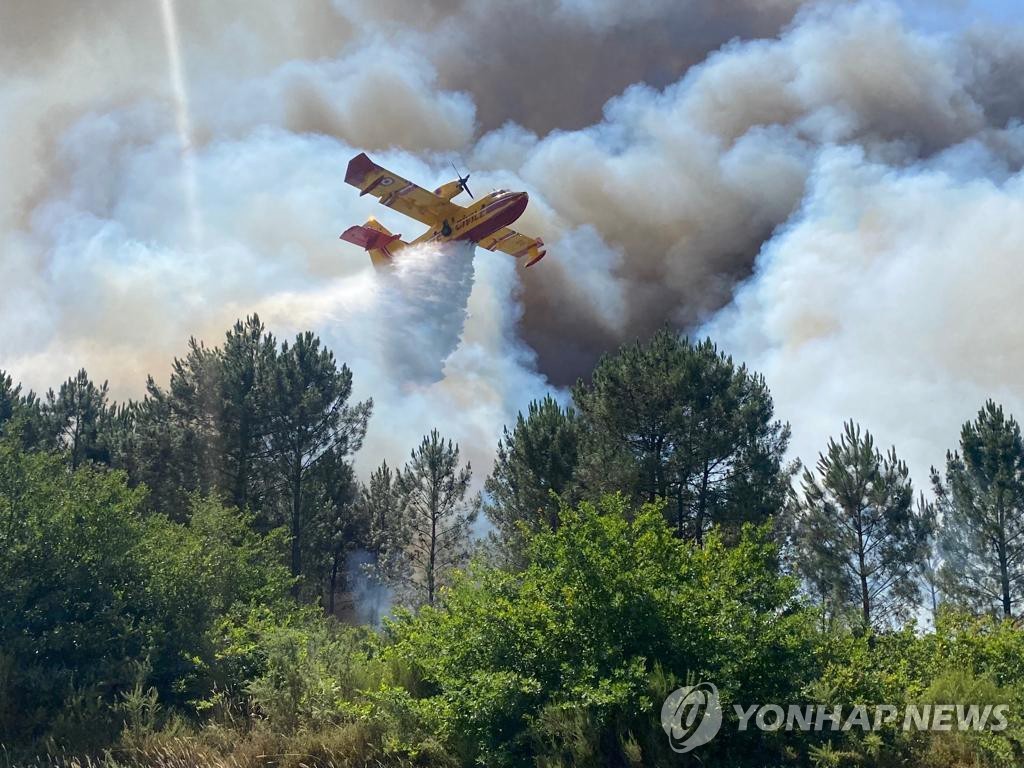
M 392 234 L 377 219 L 371 218 L 361 226 L 348 227 L 341 239 L 369 251 L 371 261 L 378 268 L 390 264 L 391 258 L 402 248 L 451 241 L 468 241 L 488 251 L 504 251 L 517 259 L 526 256 L 526 266 L 544 258 L 543 240 L 509 228 L 509 224 L 526 210 L 529 202 L 526 193 L 499 189 L 464 208 L 452 199 L 461 191 L 473 197 L 469 190 L 469 176 L 459 176 L 458 171 L 456 175 L 457 180 L 431 193 L 381 168 L 365 153 L 356 155 L 348 163 L 345 181 L 359 189 L 359 197 L 373 195 L 388 208 L 430 228 L 412 243 L 404 243 L 400 234 Z

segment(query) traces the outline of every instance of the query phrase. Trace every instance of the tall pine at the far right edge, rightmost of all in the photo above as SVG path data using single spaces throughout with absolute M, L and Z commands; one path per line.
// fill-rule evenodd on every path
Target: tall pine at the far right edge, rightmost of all
M 989 400 L 961 430 L 946 456 L 946 477 L 932 468 L 943 527 L 939 546 L 950 596 L 1013 615 L 1024 588 L 1024 440 L 1020 426 Z

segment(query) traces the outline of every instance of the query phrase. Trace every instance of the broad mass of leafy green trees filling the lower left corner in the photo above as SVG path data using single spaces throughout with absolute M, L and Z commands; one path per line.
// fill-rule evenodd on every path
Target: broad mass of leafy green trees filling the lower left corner
M 289 609 L 281 535 L 209 500 L 187 526 L 143 517 L 143 498 L 121 473 L 0 443 L 0 731 L 102 743 L 143 682 L 162 701 L 206 692 L 218 622 Z

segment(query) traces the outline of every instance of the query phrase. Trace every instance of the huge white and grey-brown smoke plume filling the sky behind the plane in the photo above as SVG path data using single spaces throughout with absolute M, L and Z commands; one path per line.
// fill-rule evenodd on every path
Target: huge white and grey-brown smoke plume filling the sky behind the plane
M 764 371 L 805 459 L 853 416 L 920 475 L 984 396 L 1020 411 L 1019 27 L 873 0 L 172 4 L 179 79 L 160 3 L 0 6 L 0 367 L 29 386 L 86 366 L 137 395 L 259 311 L 375 397 L 366 462 L 438 426 L 482 476 L 516 410 L 666 323 Z M 420 229 L 343 183 L 359 151 L 526 189 L 548 258 L 375 274 L 338 233 Z

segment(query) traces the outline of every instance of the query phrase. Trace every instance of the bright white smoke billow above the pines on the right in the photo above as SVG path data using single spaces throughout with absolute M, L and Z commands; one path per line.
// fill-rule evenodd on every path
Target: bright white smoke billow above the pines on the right
M 765 374 L 806 461 L 853 418 L 924 482 L 987 397 L 1024 416 L 1024 174 L 961 170 L 823 153 L 800 214 L 702 329 Z

